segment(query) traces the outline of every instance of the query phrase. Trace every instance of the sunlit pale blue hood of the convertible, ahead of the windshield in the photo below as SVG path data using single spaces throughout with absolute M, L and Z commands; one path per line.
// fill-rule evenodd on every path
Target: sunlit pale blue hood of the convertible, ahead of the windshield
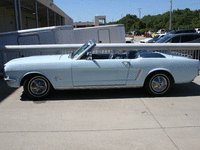
M 58 62 L 63 58 L 63 55 L 43 55 L 43 56 L 30 56 L 23 58 L 16 58 L 8 63 L 8 64 L 25 64 L 25 63 L 45 63 L 45 62 Z M 69 59 L 69 55 L 64 56 L 65 59 Z

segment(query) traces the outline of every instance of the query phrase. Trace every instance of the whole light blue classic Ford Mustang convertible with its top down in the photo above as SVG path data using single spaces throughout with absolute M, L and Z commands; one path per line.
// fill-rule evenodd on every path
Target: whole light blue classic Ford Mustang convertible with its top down
M 10 87 L 24 87 L 29 98 L 41 99 L 52 89 L 144 87 L 153 96 L 188 83 L 199 74 L 199 61 L 145 50 L 93 54 L 89 41 L 69 55 L 31 56 L 5 64 Z

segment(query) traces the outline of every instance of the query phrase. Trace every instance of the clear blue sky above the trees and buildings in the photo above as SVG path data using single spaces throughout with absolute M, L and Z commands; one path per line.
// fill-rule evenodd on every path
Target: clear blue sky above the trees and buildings
M 105 15 L 107 22 L 117 21 L 126 14 L 141 17 L 162 14 L 170 10 L 170 0 L 54 0 L 74 22 L 94 21 L 95 15 Z M 200 9 L 200 0 L 172 0 L 172 9 Z

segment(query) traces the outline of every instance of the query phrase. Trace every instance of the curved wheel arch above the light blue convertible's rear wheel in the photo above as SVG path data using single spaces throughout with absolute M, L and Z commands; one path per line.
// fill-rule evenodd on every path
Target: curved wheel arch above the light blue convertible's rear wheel
M 144 84 L 146 83 L 146 81 L 148 81 L 148 79 L 149 79 L 152 75 L 154 75 L 154 74 L 156 74 L 156 73 L 164 73 L 164 74 L 169 75 L 169 77 L 172 79 L 172 82 L 175 83 L 174 77 L 172 76 L 172 74 L 170 73 L 169 70 L 167 70 L 167 69 L 154 69 L 154 70 L 149 71 L 149 73 L 148 73 L 148 75 L 147 75 L 147 77 L 146 77 L 146 79 L 145 79 L 145 81 L 144 81 Z

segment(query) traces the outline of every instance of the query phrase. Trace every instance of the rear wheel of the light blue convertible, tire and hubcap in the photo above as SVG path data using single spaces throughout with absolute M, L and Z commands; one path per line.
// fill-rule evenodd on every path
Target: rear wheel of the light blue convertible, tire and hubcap
M 155 73 L 147 78 L 145 88 L 150 95 L 162 96 L 169 92 L 172 83 L 172 78 L 168 74 Z

